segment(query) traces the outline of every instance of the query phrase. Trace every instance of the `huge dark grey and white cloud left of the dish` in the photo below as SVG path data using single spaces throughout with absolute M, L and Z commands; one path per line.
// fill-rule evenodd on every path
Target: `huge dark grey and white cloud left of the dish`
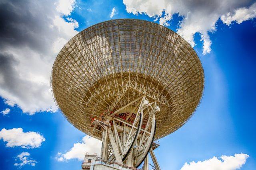
M 23 112 L 56 111 L 50 73 L 56 55 L 78 33 L 75 0 L 0 2 L 0 96 Z

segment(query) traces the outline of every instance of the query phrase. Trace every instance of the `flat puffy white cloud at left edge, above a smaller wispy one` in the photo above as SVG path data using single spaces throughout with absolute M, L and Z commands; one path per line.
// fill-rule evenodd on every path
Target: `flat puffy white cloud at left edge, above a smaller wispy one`
M 22 128 L 2 129 L 0 139 L 6 143 L 6 147 L 22 147 L 26 149 L 38 148 L 45 138 L 36 132 L 23 132 Z

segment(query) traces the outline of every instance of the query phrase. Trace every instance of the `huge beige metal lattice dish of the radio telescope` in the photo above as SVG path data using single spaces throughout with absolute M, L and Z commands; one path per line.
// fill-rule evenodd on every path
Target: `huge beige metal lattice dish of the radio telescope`
M 102 130 L 91 126 L 92 119 L 108 113 L 132 122 L 145 96 L 161 108 L 155 113 L 154 138 L 159 139 L 192 116 L 202 97 L 204 72 L 194 49 L 174 31 L 150 21 L 120 19 L 70 39 L 54 62 L 51 83 L 66 119 L 97 139 Z M 149 116 L 143 117 L 142 127 Z

